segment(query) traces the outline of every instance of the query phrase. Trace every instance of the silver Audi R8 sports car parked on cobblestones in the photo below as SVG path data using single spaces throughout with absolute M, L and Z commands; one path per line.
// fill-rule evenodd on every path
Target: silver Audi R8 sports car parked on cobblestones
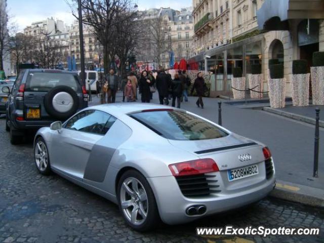
M 185 110 L 152 104 L 88 107 L 38 130 L 35 165 L 118 204 L 149 230 L 239 208 L 275 185 L 271 153 Z

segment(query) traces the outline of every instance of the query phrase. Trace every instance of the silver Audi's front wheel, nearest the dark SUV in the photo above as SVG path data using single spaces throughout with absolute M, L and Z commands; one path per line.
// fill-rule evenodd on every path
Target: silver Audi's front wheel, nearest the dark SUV
M 50 175 L 51 165 L 50 165 L 50 156 L 49 150 L 47 148 L 46 142 L 42 137 L 38 137 L 34 143 L 34 161 L 35 166 L 39 173 L 42 175 Z

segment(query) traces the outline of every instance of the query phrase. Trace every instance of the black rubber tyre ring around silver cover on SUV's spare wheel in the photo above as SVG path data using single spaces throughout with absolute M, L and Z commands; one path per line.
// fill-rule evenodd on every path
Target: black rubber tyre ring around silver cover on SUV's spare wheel
M 71 96 L 73 100 L 73 105 L 71 106 L 71 108 L 64 112 L 58 111 L 53 106 L 54 97 L 61 92 L 67 93 L 68 95 Z M 47 113 L 49 113 L 49 115 L 59 120 L 65 120 L 70 116 L 72 116 L 77 111 L 78 106 L 79 106 L 79 98 L 77 97 L 76 92 L 72 88 L 67 86 L 57 86 L 51 89 L 44 98 L 44 107 Z

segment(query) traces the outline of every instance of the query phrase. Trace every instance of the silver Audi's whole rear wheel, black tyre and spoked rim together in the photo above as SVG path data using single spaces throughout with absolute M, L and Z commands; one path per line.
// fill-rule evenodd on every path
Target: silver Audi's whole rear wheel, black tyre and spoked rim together
M 127 189 L 124 183 L 128 186 Z M 137 189 L 134 189 L 134 183 L 137 183 Z M 133 192 L 134 196 L 131 196 L 128 189 Z M 155 228 L 161 222 L 154 193 L 145 177 L 138 171 L 130 170 L 120 177 L 117 186 L 117 200 L 120 213 L 133 229 L 144 232 Z M 134 211 L 135 217 L 133 217 Z M 142 215 L 145 214 L 144 218 Z

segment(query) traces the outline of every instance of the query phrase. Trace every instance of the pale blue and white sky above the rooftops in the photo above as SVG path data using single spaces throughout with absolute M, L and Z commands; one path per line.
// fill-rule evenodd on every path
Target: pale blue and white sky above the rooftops
M 190 7 L 192 0 L 135 0 L 138 9 L 170 7 L 176 10 Z M 63 20 L 65 24 L 71 24 L 75 18 L 72 16 L 67 2 L 70 0 L 7 0 L 7 9 L 10 23 L 16 23 L 20 30 L 23 30 L 32 22 L 54 19 Z

